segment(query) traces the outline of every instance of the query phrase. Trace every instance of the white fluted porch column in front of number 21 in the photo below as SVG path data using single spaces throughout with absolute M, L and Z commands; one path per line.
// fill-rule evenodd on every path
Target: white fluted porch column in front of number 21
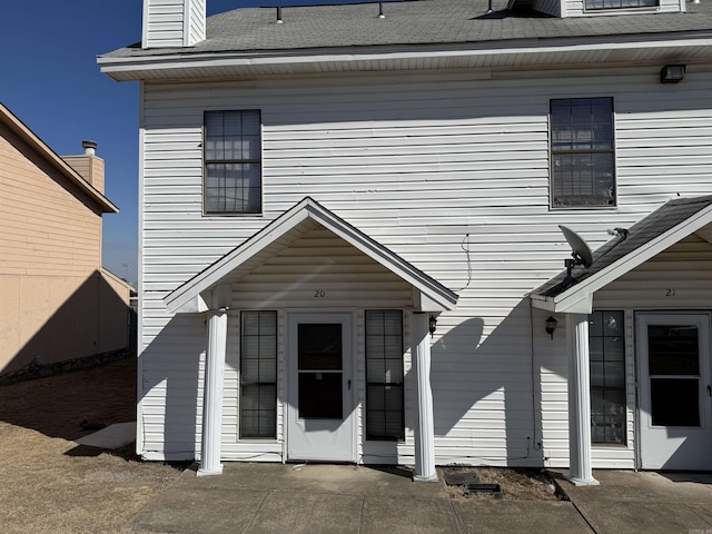
M 591 376 L 589 316 L 566 314 L 568 352 L 568 475 L 575 486 L 599 484 L 591 467 Z

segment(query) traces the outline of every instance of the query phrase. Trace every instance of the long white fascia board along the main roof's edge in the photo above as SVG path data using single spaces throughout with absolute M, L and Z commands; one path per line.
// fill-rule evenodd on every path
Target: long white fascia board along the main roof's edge
M 610 37 L 603 38 L 607 39 Z M 135 72 L 134 79 L 146 79 L 147 73 L 151 71 L 180 70 L 180 69 L 209 69 L 209 68 L 239 68 L 239 67 L 264 67 L 264 66 L 288 66 L 288 65 L 334 65 L 348 63 L 358 61 L 406 61 L 422 59 L 454 59 L 454 58 L 475 58 L 487 56 L 512 56 L 516 55 L 521 58 L 518 65 L 526 65 L 525 58 L 535 58 L 538 55 L 577 52 L 610 52 L 616 50 L 644 50 L 644 49 L 669 49 L 669 48 L 692 48 L 699 51 L 701 48 L 710 47 L 712 39 L 710 38 L 676 38 L 655 40 L 655 36 L 644 36 L 645 40 L 641 40 L 641 36 L 616 36 L 615 42 L 603 41 L 601 37 L 591 37 L 582 39 L 562 38 L 562 39 L 522 39 L 513 42 L 494 41 L 484 43 L 476 48 L 464 49 L 467 44 L 452 46 L 427 46 L 416 44 L 412 47 L 405 46 L 379 46 L 364 47 L 363 52 L 354 53 L 354 49 L 333 49 L 325 53 L 301 53 L 289 50 L 267 51 L 263 53 L 236 53 L 236 52 L 206 52 L 206 53 L 162 53 L 156 56 L 137 56 L 130 58 L 99 57 L 97 62 L 101 72 L 111 76 L 112 73 Z M 544 41 L 551 41 L 552 44 L 543 44 Z M 492 44 L 492 46 L 488 46 Z M 395 50 L 394 50 L 395 49 Z M 368 51 L 369 50 L 369 51 Z M 712 55 L 712 52 L 711 52 Z M 532 60 L 536 62 L 536 59 Z

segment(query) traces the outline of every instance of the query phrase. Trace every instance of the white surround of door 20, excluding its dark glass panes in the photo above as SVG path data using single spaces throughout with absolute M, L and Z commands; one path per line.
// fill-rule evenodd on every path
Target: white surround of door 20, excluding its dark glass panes
M 343 411 L 338 419 L 300 419 L 298 413 L 298 325 L 342 325 L 343 336 Z M 287 312 L 287 402 L 285 428 L 285 457 L 287 461 L 356 461 L 356 384 L 355 368 L 355 313 L 353 310 L 291 310 Z

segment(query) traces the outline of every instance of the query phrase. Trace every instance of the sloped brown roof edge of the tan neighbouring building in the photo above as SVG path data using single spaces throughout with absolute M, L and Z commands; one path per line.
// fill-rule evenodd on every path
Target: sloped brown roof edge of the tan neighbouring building
M 107 197 L 95 189 L 79 172 L 71 168 L 61 156 L 58 156 L 42 139 L 40 139 L 24 122 L 22 122 L 12 111 L 10 111 L 2 102 L 0 102 L 0 122 L 7 126 L 10 131 L 18 136 L 22 141 L 27 142 L 30 148 L 42 156 L 52 167 L 55 167 L 62 176 L 76 185 L 81 192 L 95 202 L 103 214 L 118 214 L 119 208 L 113 205 Z

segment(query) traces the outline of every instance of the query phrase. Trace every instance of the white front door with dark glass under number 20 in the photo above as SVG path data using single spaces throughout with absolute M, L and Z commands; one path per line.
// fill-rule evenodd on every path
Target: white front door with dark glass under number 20
M 355 461 L 352 332 L 349 313 L 289 314 L 289 461 Z

